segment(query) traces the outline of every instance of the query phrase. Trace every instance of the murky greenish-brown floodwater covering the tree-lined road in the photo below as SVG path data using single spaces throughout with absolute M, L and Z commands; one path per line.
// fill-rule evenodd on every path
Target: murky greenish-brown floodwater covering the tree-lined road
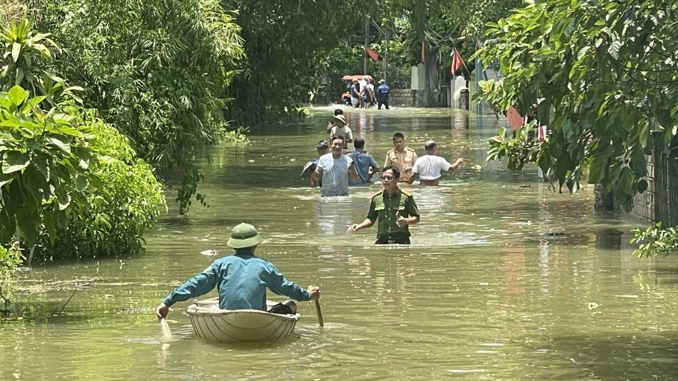
M 364 219 L 378 185 L 320 200 L 299 180 L 331 112 L 315 109 L 309 123 L 252 137 L 246 148 L 213 150 L 201 189 L 209 208 L 160 221 L 146 254 L 22 273 L 23 287 L 54 286 L 17 297 L 43 316 L 59 313 L 75 280 L 89 285 L 58 317 L 0 325 L 0 378 L 676 378 L 678 264 L 631 256 L 628 230 L 638 221 L 596 214 L 590 186 L 559 194 L 534 167 L 511 173 L 486 163 L 493 116 L 351 111 L 349 125 L 379 165 L 393 132 L 420 154 L 435 139 L 440 155 L 465 157 L 442 186 L 412 187 L 421 212 L 412 246 L 375 247 L 376 227 L 347 228 Z M 257 254 L 302 286 L 322 287 L 324 329 L 306 303 L 285 343 L 214 345 L 193 336 L 185 302 L 169 316 L 174 340 L 163 343 L 153 307 L 211 263 L 200 251 L 229 253 L 225 238 L 241 221 L 265 238 Z

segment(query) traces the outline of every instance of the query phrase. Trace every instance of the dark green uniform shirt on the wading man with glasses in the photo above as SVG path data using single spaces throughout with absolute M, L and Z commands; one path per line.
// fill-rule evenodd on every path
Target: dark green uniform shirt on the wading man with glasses
M 372 196 L 368 219 L 377 221 L 377 240 L 397 240 L 409 238 L 409 225 L 399 227 L 396 224 L 398 214 L 402 217 L 419 217 L 414 196 L 409 191 L 398 189 L 389 197 L 383 190 Z

